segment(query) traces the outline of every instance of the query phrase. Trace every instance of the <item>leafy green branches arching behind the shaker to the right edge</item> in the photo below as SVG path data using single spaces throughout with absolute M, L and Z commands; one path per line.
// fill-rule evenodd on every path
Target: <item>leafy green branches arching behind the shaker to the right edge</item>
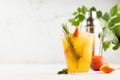
M 120 4 L 113 6 L 108 12 L 102 13 L 101 10 L 97 10 L 94 6 L 87 8 L 86 6 L 78 7 L 73 12 L 73 17 L 68 21 L 73 26 L 79 26 L 85 19 L 85 13 L 88 11 L 95 11 L 97 18 L 100 20 L 103 31 L 100 37 L 103 38 L 103 49 L 106 51 L 111 44 L 113 44 L 113 50 L 120 48 Z

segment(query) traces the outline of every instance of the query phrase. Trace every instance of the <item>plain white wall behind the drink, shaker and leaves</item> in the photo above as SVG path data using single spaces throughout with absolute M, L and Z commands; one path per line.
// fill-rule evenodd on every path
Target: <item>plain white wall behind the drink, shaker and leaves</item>
M 0 0 L 0 63 L 65 63 L 61 24 L 85 5 L 108 11 L 120 0 Z M 120 63 L 120 50 L 104 55 Z

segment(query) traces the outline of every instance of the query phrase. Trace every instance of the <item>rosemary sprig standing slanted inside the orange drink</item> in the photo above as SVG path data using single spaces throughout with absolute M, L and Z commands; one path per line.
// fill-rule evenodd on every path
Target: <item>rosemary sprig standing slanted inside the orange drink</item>
M 63 32 L 65 35 L 65 39 L 68 41 L 69 45 L 70 45 L 70 50 L 72 55 L 75 57 L 75 59 L 78 61 L 80 56 L 76 54 L 76 51 L 74 49 L 74 45 L 72 44 L 71 39 L 69 38 L 68 34 L 70 33 L 67 27 L 67 24 L 62 24 L 62 28 L 63 28 Z

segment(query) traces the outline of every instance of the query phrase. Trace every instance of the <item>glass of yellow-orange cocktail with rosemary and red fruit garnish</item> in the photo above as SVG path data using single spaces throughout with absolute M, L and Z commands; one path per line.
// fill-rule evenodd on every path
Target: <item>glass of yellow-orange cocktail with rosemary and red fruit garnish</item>
M 65 27 L 63 30 L 67 31 Z M 94 34 L 88 32 L 64 32 L 62 37 L 68 73 L 88 72 L 91 64 Z

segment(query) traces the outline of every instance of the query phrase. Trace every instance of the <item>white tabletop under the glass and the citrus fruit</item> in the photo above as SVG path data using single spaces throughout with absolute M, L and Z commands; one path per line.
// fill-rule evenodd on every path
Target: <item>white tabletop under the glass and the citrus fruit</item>
M 115 65 L 120 68 L 120 65 Z M 120 69 L 110 74 L 90 70 L 88 73 L 62 74 L 62 64 L 0 64 L 0 80 L 120 80 Z

